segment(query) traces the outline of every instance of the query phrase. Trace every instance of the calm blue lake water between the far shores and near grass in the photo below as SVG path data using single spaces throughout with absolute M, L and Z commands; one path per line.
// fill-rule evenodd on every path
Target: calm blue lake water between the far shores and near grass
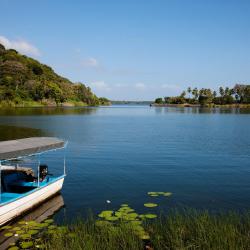
M 0 111 L 0 139 L 56 136 L 69 141 L 65 208 L 56 218 L 128 203 L 158 210 L 250 208 L 250 111 L 112 106 Z M 62 173 L 63 152 L 43 156 Z M 152 198 L 149 191 L 169 191 Z M 107 204 L 106 200 L 111 203 Z

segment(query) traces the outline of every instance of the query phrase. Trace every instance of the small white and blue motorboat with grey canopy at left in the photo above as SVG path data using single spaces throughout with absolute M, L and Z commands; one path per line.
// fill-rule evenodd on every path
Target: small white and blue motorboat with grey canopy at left
M 65 148 L 67 143 L 54 137 L 31 137 L 0 142 L 0 225 L 20 216 L 58 193 L 65 172 L 60 176 L 48 174 L 48 166 L 40 164 L 40 155 Z M 30 167 L 20 166 L 20 160 L 38 155 L 37 174 Z M 16 161 L 7 165 L 6 162 Z

